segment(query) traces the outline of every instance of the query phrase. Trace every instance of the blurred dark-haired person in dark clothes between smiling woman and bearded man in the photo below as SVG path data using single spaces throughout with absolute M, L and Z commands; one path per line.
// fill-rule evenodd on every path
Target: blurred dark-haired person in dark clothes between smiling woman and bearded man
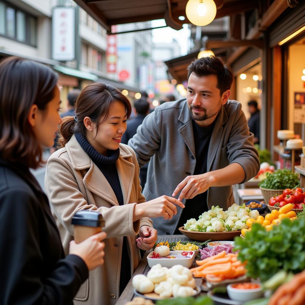
M 122 143 L 127 144 L 128 141 L 137 133 L 137 128 L 142 124 L 144 118 L 149 114 L 149 102 L 145 98 L 140 98 L 134 103 L 135 117 L 127 121 L 127 129 L 122 137 Z M 141 186 L 144 188 L 146 182 L 148 163 L 140 169 Z

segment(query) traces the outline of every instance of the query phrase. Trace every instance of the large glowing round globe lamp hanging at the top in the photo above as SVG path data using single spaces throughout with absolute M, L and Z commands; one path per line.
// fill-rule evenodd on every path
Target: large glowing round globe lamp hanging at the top
M 216 11 L 213 0 L 188 0 L 185 7 L 188 20 L 199 27 L 211 23 L 216 16 Z

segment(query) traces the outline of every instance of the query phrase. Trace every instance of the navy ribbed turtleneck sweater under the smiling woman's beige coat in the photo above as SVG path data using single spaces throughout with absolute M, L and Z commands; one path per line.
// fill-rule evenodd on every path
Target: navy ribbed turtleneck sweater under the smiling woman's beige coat
M 75 138 L 77 139 L 79 145 L 81 145 L 81 148 L 84 149 L 84 151 L 88 154 L 88 156 L 109 182 L 113 192 L 115 193 L 115 196 L 117 197 L 119 205 L 124 205 L 122 188 L 120 185 L 119 175 L 117 174 L 117 168 L 115 166 L 115 162 L 119 159 L 120 156 L 120 148 L 117 150 L 108 149 L 106 157 L 100 154 L 80 133 L 76 133 Z M 127 250 L 127 238 L 124 237 L 121 259 L 120 294 L 123 292 L 124 288 L 131 279 L 130 269 L 131 267 Z

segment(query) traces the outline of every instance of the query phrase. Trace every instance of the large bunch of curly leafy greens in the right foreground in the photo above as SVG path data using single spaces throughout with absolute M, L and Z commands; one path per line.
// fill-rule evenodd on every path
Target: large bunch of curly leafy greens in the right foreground
M 235 238 L 238 259 L 247 262 L 247 275 L 267 281 L 280 270 L 301 272 L 305 269 L 305 219 L 283 219 L 270 231 L 253 224 L 246 238 Z

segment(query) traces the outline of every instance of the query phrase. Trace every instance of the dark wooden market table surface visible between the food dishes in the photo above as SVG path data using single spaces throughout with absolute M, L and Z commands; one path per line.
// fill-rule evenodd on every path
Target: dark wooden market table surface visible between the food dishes
M 187 237 L 185 237 L 184 235 L 160 235 L 160 236 L 158 236 L 158 242 L 162 242 L 162 241 L 166 241 L 166 240 L 168 240 L 168 242 L 178 242 L 179 240 L 181 240 L 181 242 L 189 241 L 189 239 Z M 146 251 L 144 254 L 144 257 L 142 258 L 140 264 L 138 265 L 138 268 L 135 270 L 135 273 L 133 274 L 133 276 L 136 274 L 145 274 L 146 275 L 148 273 L 148 271 L 150 270 L 150 268 L 147 264 L 147 259 L 146 259 L 148 254 L 149 254 L 149 251 Z M 197 267 L 197 264 L 194 262 L 192 267 Z M 196 286 L 200 287 L 202 279 L 195 278 L 195 281 L 196 281 Z M 123 304 L 126 304 L 127 302 L 131 301 L 135 297 L 133 290 L 134 289 L 132 287 L 132 278 L 131 278 L 131 280 L 128 282 L 126 288 L 124 289 L 124 291 L 120 295 L 119 299 L 117 300 L 116 305 L 123 305 Z M 205 294 L 206 294 L 206 292 L 201 292 L 200 295 L 205 295 Z

